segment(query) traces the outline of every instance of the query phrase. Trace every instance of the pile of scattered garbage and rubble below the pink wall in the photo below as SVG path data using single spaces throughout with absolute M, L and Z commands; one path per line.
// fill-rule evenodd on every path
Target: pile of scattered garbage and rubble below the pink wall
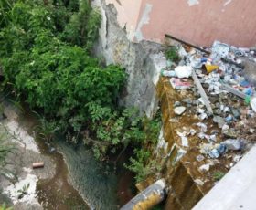
M 192 90 L 194 95 L 194 99 L 174 104 L 176 116 L 189 110 L 200 120 L 198 131 L 177 131 L 182 146 L 188 146 L 188 135 L 197 135 L 204 140 L 200 152 L 216 159 L 228 151 L 244 150 L 249 139 L 247 135 L 255 132 L 256 128 L 244 126 L 256 119 L 256 48 L 233 47 L 215 41 L 208 48 L 209 53 L 205 51 L 190 48 L 187 52 L 179 47 L 182 59 L 178 65 L 167 61 L 161 73 L 170 77 L 173 89 Z M 219 130 L 208 133 L 204 121 L 211 119 Z M 221 140 L 217 141 L 219 131 Z

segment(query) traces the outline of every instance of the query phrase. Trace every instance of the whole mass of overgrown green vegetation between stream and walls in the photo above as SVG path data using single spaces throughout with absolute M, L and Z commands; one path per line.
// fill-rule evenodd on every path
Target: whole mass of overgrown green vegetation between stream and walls
M 90 2 L 1 1 L 0 65 L 5 87 L 43 116 L 44 139 L 50 141 L 57 131 L 70 142 L 83 138 L 104 159 L 128 145 L 149 148 L 160 128 L 159 121 L 140 118 L 137 110 L 117 107 L 126 75 L 123 68 L 102 66 L 91 57 L 101 15 Z M 153 163 L 143 149 L 135 156 L 127 167 L 139 180 L 152 173 Z

